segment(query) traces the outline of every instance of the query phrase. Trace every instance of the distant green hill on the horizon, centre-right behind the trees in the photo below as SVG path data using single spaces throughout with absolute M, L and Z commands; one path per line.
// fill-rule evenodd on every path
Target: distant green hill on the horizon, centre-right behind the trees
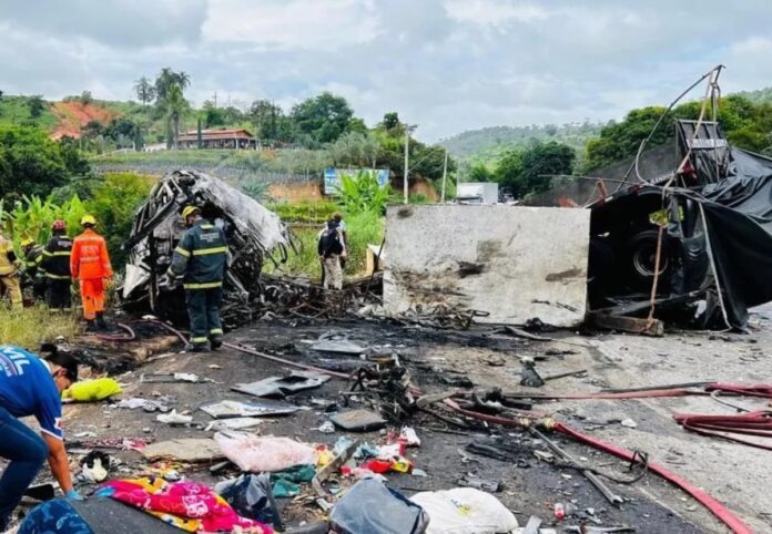
M 571 123 L 556 126 L 491 126 L 463 132 L 439 142 L 453 156 L 474 162 L 491 162 L 514 146 L 524 146 L 531 140 L 557 141 L 582 154 L 587 141 L 600 134 L 602 123 Z

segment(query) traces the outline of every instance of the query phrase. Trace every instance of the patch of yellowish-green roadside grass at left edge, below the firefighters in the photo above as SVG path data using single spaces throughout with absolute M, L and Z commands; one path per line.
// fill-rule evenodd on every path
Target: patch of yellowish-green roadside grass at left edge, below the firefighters
M 0 340 L 7 345 L 17 345 L 37 350 L 44 341 L 54 341 L 63 337 L 71 341 L 78 329 L 78 314 L 52 312 L 43 306 L 33 308 L 0 308 Z

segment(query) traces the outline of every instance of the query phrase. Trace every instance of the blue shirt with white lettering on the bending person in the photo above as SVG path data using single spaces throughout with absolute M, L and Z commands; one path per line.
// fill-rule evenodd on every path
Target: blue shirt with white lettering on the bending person
M 34 415 L 43 432 L 62 439 L 62 401 L 48 362 L 10 345 L 0 346 L 0 407 Z

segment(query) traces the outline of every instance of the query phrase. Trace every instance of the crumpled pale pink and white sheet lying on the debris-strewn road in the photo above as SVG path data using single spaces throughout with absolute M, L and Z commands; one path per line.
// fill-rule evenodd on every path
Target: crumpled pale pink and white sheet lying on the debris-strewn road
M 245 432 L 217 432 L 214 441 L 225 458 L 242 471 L 283 471 L 293 465 L 316 464 L 311 446 L 290 438 L 258 437 Z

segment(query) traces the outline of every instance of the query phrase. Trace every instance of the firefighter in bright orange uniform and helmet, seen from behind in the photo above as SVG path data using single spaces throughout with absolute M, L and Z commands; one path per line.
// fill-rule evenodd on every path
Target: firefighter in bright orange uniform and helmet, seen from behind
M 80 281 L 83 317 L 89 328 L 105 330 L 104 289 L 113 271 L 104 237 L 94 232 L 96 219 L 84 215 L 81 219 L 83 233 L 72 242 L 70 271 Z

